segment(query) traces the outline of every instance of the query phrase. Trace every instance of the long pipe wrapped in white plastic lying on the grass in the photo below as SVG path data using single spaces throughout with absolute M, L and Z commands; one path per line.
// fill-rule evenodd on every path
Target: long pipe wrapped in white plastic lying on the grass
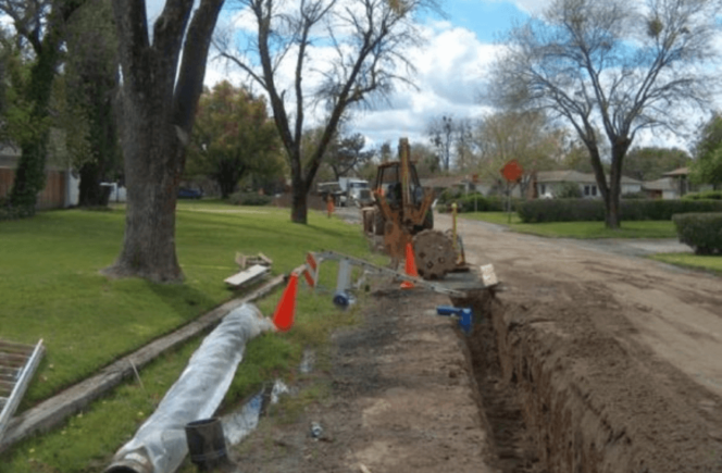
M 273 323 L 253 304 L 245 303 L 228 313 L 203 339 L 155 412 L 115 453 L 105 473 L 174 472 L 188 452 L 186 424 L 215 413 L 242 359 L 246 343 L 273 329 Z

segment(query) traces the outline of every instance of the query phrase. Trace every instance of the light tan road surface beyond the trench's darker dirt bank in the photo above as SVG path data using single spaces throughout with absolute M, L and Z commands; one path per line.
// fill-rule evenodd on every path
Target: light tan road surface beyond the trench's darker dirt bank
M 446 215 L 436 222 L 451 225 Z M 494 263 L 520 298 L 553 286 L 553 303 L 572 301 L 576 309 L 598 301 L 611 308 L 606 316 L 613 312 L 634 326 L 635 340 L 722 396 L 722 278 L 634 258 L 668 251 L 674 241 L 542 238 L 465 220 L 459 233 L 468 259 Z

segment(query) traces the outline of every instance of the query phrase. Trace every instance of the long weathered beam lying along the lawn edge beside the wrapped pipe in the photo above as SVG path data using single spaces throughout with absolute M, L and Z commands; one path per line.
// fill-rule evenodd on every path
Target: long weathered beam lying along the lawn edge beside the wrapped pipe
M 117 386 L 123 379 L 132 377 L 134 373 L 133 364 L 137 369 L 145 366 L 161 353 L 208 331 L 232 310 L 267 295 L 282 284 L 284 284 L 284 276 L 276 276 L 247 297 L 234 299 L 213 309 L 177 331 L 146 345 L 134 353 L 123 357 L 102 369 L 97 375 L 71 386 L 59 395 L 22 412 L 10 422 L 5 435 L 0 441 L 0 452 L 32 434 L 57 427 L 65 419 L 79 412 L 108 390 Z

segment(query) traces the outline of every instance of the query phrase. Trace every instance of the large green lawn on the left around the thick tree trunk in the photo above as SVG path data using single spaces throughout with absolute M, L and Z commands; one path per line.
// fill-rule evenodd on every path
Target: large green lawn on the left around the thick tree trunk
M 236 251 L 259 251 L 286 273 L 307 251 L 336 249 L 370 257 L 358 225 L 310 211 L 308 225 L 290 223 L 288 209 L 179 202 L 176 244 L 186 281 L 154 285 L 110 281 L 99 270 L 117 256 L 124 213 L 82 210 L 39 213 L 0 222 L 0 337 L 34 344 L 47 352 L 21 406 L 26 409 L 234 297 L 223 279 L 237 271 Z M 378 258 L 378 257 L 376 257 Z M 335 284 L 324 263 L 322 282 Z M 303 286 L 301 286 L 302 288 Z M 259 302 L 270 315 L 281 291 Z M 295 372 L 307 346 L 320 346 L 353 311 L 339 314 L 331 296 L 299 290 L 296 325 L 286 334 L 252 340 L 225 403 L 233 403 L 275 376 Z M 99 471 L 134 434 L 177 378 L 200 340 L 192 340 L 74 416 L 65 427 L 21 443 L 0 457 L 0 471 Z

